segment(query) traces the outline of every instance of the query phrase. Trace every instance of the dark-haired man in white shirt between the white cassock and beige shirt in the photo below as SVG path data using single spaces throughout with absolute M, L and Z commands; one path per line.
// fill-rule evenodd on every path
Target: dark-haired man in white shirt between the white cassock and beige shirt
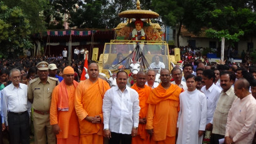
M 206 130 L 211 131 L 213 128 L 213 113 L 215 111 L 216 105 L 218 103 L 218 98 L 220 96 L 220 88 L 214 84 L 215 73 L 211 69 L 205 69 L 203 71 L 202 83 L 205 85 L 201 88 L 201 91 L 205 93 L 207 100 L 207 120 L 206 120 Z

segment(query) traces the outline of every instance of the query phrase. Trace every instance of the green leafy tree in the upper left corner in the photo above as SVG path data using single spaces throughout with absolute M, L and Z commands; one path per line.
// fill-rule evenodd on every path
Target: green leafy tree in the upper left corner
M 23 10 L 18 7 L 8 8 L 0 2 L 0 56 L 7 57 L 8 51 L 14 50 L 15 56 L 23 55 L 23 48 L 33 46 L 29 39 L 31 26 Z M 10 55 L 9 55 L 10 56 Z

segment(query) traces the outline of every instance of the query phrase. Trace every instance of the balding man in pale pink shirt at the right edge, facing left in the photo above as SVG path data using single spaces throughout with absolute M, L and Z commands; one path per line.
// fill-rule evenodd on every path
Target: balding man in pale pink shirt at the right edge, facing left
M 256 100 L 249 92 L 250 84 L 245 78 L 235 82 L 237 99 L 228 111 L 225 143 L 252 143 L 256 130 Z

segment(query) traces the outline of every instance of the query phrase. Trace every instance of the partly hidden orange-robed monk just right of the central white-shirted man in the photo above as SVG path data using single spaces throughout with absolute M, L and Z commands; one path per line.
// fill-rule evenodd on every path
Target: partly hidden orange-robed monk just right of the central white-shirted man
M 131 88 L 139 93 L 139 127 L 137 136 L 132 137 L 132 144 L 147 144 L 150 143 L 150 135 L 146 131 L 146 117 L 147 117 L 147 98 L 151 93 L 152 88 L 145 85 L 147 81 L 147 75 L 144 71 L 137 73 L 137 83 Z

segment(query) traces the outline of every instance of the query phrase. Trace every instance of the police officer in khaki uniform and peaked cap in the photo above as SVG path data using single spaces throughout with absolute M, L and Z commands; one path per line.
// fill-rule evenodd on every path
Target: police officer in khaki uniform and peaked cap
M 58 83 L 58 78 L 48 76 L 48 63 L 41 61 L 36 64 L 38 78 L 29 81 L 28 100 L 33 104 L 35 143 L 55 144 L 55 134 L 50 125 L 51 93 Z

